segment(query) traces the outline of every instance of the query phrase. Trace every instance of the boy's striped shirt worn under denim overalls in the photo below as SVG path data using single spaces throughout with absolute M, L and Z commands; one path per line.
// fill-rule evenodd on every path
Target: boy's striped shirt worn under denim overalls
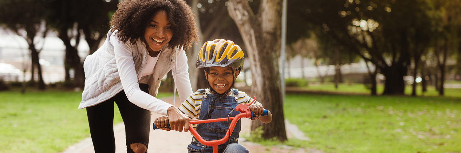
M 209 89 L 205 89 L 206 94 L 211 94 Z M 229 96 L 235 96 L 234 95 L 234 89 L 231 89 L 231 95 Z M 201 102 L 203 99 L 203 93 L 200 93 L 200 91 L 196 91 L 192 94 L 192 96 L 189 96 L 189 98 L 186 99 L 185 102 L 179 107 L 179 111 L 182 113 L 186 114 L 189 116 L 190 119 L 198 119 L 200 115 L 200 108 L 201 108 Z M 247 93 L 243 91 L 238 91 L 238 104 L 241 103 L 250 103 L 253 102 L 253 98 L 247 95 Z M 254 104 L 261 104 L 258 101 L 255 101 L 252 105 Z M 196 128 L 197 125 L 194 125 L 194 128 Z

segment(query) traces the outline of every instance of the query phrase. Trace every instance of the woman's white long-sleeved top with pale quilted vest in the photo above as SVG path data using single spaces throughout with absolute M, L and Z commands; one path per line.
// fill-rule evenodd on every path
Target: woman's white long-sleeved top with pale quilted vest
M 106 101 L 119 91 L 124 90 L 128 100 L 136 104 L 136 106 L 154 113 L 167 115 L 167 109 L 173 105 L 154 96 L 158 93 L 160 79 L 170 69 L 176 80 L 180 100 L 185 101 L 192 94 L 187 57 L 182 48 L 167 48 L 166 44 L 160 55 L 158 55 L 159 59 L 155 62 L 154 69 L 151 70 L 153 73 L 142 77 L 142 73 L 145 71 L 144 68 L 147 66 L 142 67 L 140 65 L 145 64 L 147 61 L 143 61 L 144 59 L 140 55 L 149 56 L 147 53 L 143 53 L 143 51 L 147 52 L 144 43 L 141 40 L 138 40 L 136 44 L 131 44 L 130 41 L 126 43 L 119 42 L 116 32 L 109 32 L 106 42 L 98 49 L 98 51 L 102 51 L 96 51 L 97 53 L 95 52 L 95 54 L 88 56 L 85 60 L 84 68 L 87 80 L 85 80 L 85 90 L 82 94 L 80 109 Z M 175 49 L 177 50 L 173 51 Z M 176 55 L 172 53 L 176 53 Z M 112 58 L 115 59 L 116 69 L 112 68 Z M 113 74 L 118 74 L 119 78 L 114 77 Z M 120 82 L 116 82 L 118 79 L 121 85 L 119 85 Z M 140 79 L 148 83 L 149 94 L 139 88 Z M 106 85 L 106 83 L 110 84 Z M 119 89 L 120 87 L 123 88 Z

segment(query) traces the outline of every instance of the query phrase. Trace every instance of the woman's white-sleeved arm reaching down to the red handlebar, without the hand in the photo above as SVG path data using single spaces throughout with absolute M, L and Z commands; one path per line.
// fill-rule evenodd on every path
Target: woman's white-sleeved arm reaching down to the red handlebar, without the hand
M 150 110 L 154 113 L 168 115 L 167 109 L 173 105 L 163 102 L 141 91 L 139 88 L 130 42 L 119 42 L 116 32 L 117 31 L 112 33 L 110 42 L 114 46 L 118 74 L 128 100 L 140 108 Z

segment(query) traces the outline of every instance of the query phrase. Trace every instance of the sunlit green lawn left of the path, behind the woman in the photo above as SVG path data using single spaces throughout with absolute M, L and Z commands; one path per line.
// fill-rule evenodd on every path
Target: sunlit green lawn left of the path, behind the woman
M 81 91 L 1 91 L 0 99 L 0 153 L 56 153 L 89 136 L 86 110 L 78 109 Z M 114 109 L 117 124 L 122 118 Z

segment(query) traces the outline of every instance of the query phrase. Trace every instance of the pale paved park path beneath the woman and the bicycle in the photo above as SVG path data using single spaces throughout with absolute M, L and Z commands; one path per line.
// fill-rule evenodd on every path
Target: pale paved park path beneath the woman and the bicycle
M 173 97 L 160 98 L 161 100 L 173 104 Z M 176 99 L 175 106 L 179 107 L 181 105 Z M 154 120 L 160 117 L 160 114 L 152 113 L 151 115 L 151 125 Z M 241 138 L 239 143 L 247 147 L 250 153 L 322 153 L 321 151 L 314 149 L 303 149 L 303 148 L 292 148 L 288 146 L 260 146 L 259 144 L 253 142 L 247 142 L 244 140 L 242 135 L 249 135 L 250 127 L 252 120 L 243 118 L 241 119 L 242 130 L 240 132 Z M 285 121 L 287 136 L 289 138 L 296 138 L 301 140 L 309 140 L 309 138 L 304 137 L 304 133 L 297 130 L 296 125 L 292 125 Z M 115 151 L 116 153 L 126 153 L 125 146 L 125 129 L 123 123 L 119 123 L 114 126 L 114 135 L 115 135 Z M 192 135 L 189 132 L 178 132 L 175 130 L 165 131 L 165 130 L 150 130 L 149 136 L 149 147 L 148 153 L 187 153 L 187 145 L 191 141 Z M 93 149 L 93 143 L 91 138 L 85 138 L 81 142 L 78 142 L 70 147 L 68 147 L 62 153 L 95 153 Z

